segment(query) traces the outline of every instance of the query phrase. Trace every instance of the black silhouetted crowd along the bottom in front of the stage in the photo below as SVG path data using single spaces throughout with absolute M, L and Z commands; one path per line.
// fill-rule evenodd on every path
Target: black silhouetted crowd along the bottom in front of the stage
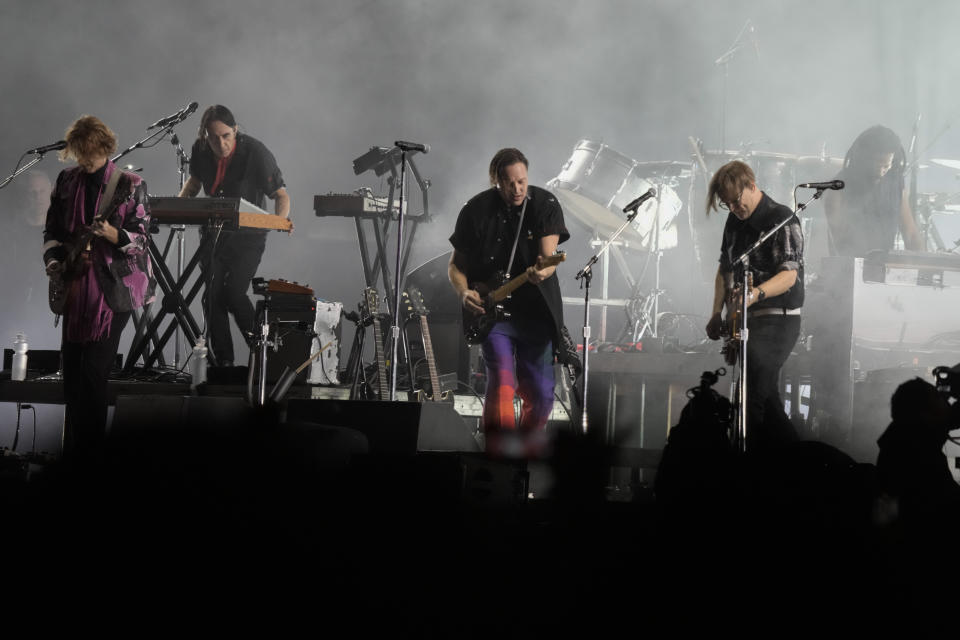
M 263 617 L 364 636 L 947 632 L 955 402 L 901 385 L 865 464 L 813 441 L 735 453 L 726 399 L 709 382 L 690 395 L 652 490 L 632 501 L 609 499 L 615 447 L 593 432 L 558 433 L 535 463 L 373 456 L 357 431 L 276 408 L 115 424 L 96 461 L 4 478 L 7 575 L 58 609 L 219 616 L 218 629 Z M 529 500 L 536 464 L 552 484 Z

